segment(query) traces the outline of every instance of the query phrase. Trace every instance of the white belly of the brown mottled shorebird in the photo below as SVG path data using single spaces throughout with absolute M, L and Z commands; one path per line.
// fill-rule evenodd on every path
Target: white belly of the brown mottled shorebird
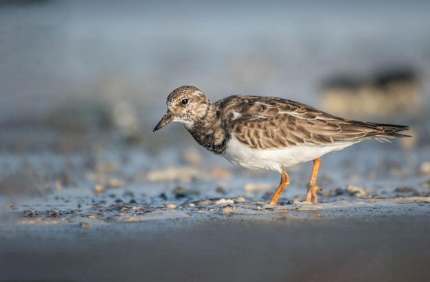
M 358 142 L 358 141 L 357 141 Z M 354 143 L 357 143 L 354 142 Z M 330 145 L 296 145 L 280 149 L 252 149 L 240 143 L 233 135 L 223 156 L 230 163 L 247 169 L 271 169 L 281 172 L 281 167 L 291 167 L 297 163 L 313 161 L 315 158 L 342 150 L 352 142 L 332 143 Z

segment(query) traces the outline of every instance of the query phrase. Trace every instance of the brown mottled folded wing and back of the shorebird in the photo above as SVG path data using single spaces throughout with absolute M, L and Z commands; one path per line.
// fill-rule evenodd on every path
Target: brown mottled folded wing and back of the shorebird
M 341 119 L 313 107 L 275 97 L 236 95 L 217 102 L 223 123 L 251 148 L 283 148 L 299 144 L 403 136 L 378 124 Z M 389 126 L 389 125 L 387 125 Z M 392 126 L 393 127 L 393 126 Z

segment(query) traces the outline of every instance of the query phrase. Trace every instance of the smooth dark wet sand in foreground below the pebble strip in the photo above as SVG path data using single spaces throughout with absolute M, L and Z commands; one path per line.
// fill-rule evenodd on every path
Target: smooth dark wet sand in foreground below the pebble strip
M 0 281 L 429 281 L 430 204 L 3 226 Z

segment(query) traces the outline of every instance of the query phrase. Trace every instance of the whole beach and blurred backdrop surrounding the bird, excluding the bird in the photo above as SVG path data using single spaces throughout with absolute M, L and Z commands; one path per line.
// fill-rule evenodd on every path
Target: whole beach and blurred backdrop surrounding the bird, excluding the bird
M 1 278 L 428 281 L 429 82 L 427 0 L 0 0 Z M 310 213 L 312 163 L 288 168 L 290 212 L 270 212 L 277 172 L 152 132 L 187 84 L 413 137 L 324 156 Z

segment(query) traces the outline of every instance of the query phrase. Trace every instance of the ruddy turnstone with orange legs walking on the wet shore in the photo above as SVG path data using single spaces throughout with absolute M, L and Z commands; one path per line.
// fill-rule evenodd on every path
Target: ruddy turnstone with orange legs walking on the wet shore
M 352 121 L 311 106 L 276 97 L 234 95 L 211 103 L 194 86 L 181 86 L 167 98 L 167 113 L 154 131 L 182 123 L 207 150 L 248 169 L 271 169 L 281 182 L 269 204 L 276 204 L 289 183 L 284 167 L 313 161 L 305 201 L 318 202 L 320 157 L 367 139 L 407 137 L 407 126 Z

